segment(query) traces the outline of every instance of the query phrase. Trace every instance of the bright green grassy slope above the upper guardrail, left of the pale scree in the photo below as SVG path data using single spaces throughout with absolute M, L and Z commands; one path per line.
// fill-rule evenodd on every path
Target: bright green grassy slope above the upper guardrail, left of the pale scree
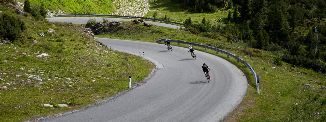
M 24 0 L 20 0 L 24 2 Z M 114 14 L 112 0 L 30 0 L 31 4 L 44 4 L 48 10 L 61 10 L 76 14 Z

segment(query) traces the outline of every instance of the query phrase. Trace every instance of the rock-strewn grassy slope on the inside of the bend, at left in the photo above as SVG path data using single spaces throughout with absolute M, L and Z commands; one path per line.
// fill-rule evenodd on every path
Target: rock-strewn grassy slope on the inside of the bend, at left
M 0 6 L 0 11 L 12 13 L 14 10 Z M 134 77 L 133 81 L 141 81 L 154 68 L 152 63 L 142 61 L 139 57 L 110 51 L 99 45 L 95 39 L 76 31 L 81 27 L 20 18 L 27 26 L 22 36 L 25 42 L 0 45 L 0 78 L 5 80 L 0 81 L 0 87 L 8 87 L 0 89 L 2 122 L 34 119 L 87 107 L 129 89 L 129 75 Z M 38 36 L 49 28 L 54 29 L 55 34 Z M 34 40 L 38 43 L 33 43 Z M 50 56 L 36 57 L 42 53 Z M 28 78 L 27 74 L 38 76 L 43 84 Z M 72 106 L 59 110 L 40 106 L 67 102 L 72 103 Z

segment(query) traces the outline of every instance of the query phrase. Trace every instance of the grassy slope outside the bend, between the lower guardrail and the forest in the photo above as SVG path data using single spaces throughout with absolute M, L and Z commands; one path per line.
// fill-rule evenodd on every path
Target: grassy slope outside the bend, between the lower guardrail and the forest
M 325 107 L 318 106 L 320 102 L 326 100 L 324 95 L 325 91 L 319 89 L 321 86 L 326 85 L 326 77 L 319 75 L 311 69 L 292 67 L 285 62 L 282 62 L 281 66 L 274 65 L 274 57 L 278 56 L 278 54 L 240 46 L 235 43 L 231 44 L 230 41 L 227 41 L 221 36 L 218 36 L 218 39 L 211 39 L 190 34 L 184 30 L 175 30 L 155 25 L 145 27 L 143 24 L 133 24 L 129 21 L 122 22 L 121 26 L 124 29 L 114 34 L 98 35 L 98 37 L 148 42 L 168 38 L 203 43 L 210 46 L 215 45 L 218 48 L 239 56 L 252 65 L 256 73 L 260 75 L 260 94 L 256 94 L 255 83 L 248 68 L 244 68 L 242 63 L 237 63 L 233 58 L 227 58 L 224 54 L 218 54 L 218 56 L 236 64 L 246 73 L 249 79 L 249 90 L 244 101 L 224 121 L 287 121 L 289 118 L 290 120 L 292 118 L 294 121 L 317 121 L 321 119 L 321 116 L 310 116 L 326 110 Z M 172 43 L 172 45 L 176 44 Z M 186 45 L 180 46 L 186 47 Z M 204 50 L 199 47 L 195 49 Z M 209 52 L 212 54 L 216 53 L 215 51 Z M 272 69 L 272 66 L 276 67 L 276 69 Z M 310 84 L 312 88 L 307 88 L 303 86 L 304 84 Z M 303 107 L 307 105 L 305 102 L 311 101 L 316 94 L 321 94 L 321 96 L 316 101 L 310 102 L 309 106 Z M 298 105 L 293 105 L 293 103 L 298 103 Z M 303 113 L 306 114 L 303 115 Z

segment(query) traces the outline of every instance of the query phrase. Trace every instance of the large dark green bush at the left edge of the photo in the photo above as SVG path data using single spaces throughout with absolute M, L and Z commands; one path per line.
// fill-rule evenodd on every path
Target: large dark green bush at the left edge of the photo
M 21 32 L 26 29 L 25 23 L 17 16 L 7 13 L 0 14 L 0 36 L 10 41 L 18 40 Z

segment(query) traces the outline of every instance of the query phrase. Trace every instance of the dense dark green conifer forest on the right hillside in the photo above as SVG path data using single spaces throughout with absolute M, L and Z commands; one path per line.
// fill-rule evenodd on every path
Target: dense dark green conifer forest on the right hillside
M 326 73 L 326 1 L 324 0 L 177 0 L 198 13 L 228 11 L 228 17 L 212 27 L 209 21 L 191 23 L 186 30 L 221 30 L 251 47 L 281 51 L 282 61 Z M 206 23 L 206 24 L 205 24 Z M 212 23 L 211 23 L 212 24 Z M 277 59 L 277 57 L 276 57 Z

